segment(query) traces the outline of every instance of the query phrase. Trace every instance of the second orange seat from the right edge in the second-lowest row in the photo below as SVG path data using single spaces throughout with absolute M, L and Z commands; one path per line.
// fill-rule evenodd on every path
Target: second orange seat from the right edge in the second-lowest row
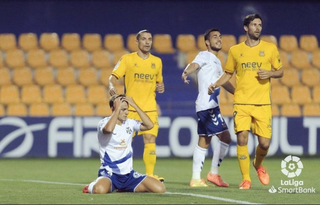
M 308 86 L 293 86 L 291 90 L 292 103 L 306 104 L 311 103 L 310 89 Z

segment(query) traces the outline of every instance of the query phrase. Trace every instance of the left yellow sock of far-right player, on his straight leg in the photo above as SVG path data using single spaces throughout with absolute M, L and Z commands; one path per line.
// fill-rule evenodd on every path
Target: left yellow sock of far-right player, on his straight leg
M 243 180 L 251 181 L 249 172 L 250 156 L 248 152 L 248 146 L 237 145 L 237 156 Z

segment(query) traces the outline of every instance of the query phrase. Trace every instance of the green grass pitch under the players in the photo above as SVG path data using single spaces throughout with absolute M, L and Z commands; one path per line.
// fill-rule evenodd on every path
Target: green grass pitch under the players
M 253 158 L 253 157 L 252 157 Z M 250 164 L 252 188 L 239 190 L 242 177 L 236 158 L 226 158 L 220 167 L 220 175 L 230 184 L 229 188 L 189 187 L 192 173 L 192 159 L 157 159 L 155 174 L 165 178 L 169 194 L 116 193 L 93 195 L 82 194 L 82 184 L 88 184 L 97 177 L 100 160 L 96 159 L 0 159 L 0 204 L 228 204 L 215 198 L 196 197 L 190 194 L 221 197 L 237 201 L 261 204 L 315 204 L 320 199 L 319 170 L 320 158 L 302 157 L 303 170 L 294 180 L 303 180 L 304 188 L 314 187 L 315 194 L 271 194 L 271 186 L 281 186 L 280 181 L 288 180 L 281 172 L 281 158 L 266 158 L 264 165 L 270 175 L 270 183 L 263 186 Z M 252 159 L 251 159 L 252 161 Z M 211 166 L 206 158 L 202 178 Z M 133 160 L 133 168 L 144 173 L 141 159 Z M 14 179 L 14 180 L 8 180 Z M 22 180 L 41 180 L 81 185 L 61 185 Z M 285 186 L 282 186 L 285 187 Z M 294 186 L 287 186 L 293 188 Z M 172 194 L 183 193 L 189 195 Z

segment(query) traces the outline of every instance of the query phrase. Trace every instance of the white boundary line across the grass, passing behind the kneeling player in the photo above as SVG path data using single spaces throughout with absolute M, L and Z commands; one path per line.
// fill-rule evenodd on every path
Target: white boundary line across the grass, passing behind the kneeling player
M 0 179 L 0 181 L 20 181 L 20 182 L 43 183 L 43 184 L 77 185 L 77 186 L 84 186 L 85 185 L 85 184 L 54 182 L 54 181 L 41 181 L 41 180 L 27 180 L 27 179 Z M 238 201 L 238 200 L 234 200 L 234 199 L 227 199 L 227 198 L 221 198 L 221 197 L 209 196 L 209 195 L 203 195 L 203 194 L 191 194 L 191 193 L 179 193 L 179 192 L 165 192 L 164 194 L 195 196 L 195 197 L 213 199 L 213 200 L 218 200 L 218 201 L 226 201 L 226 202 L 237 203 L 237 204 L 258 204 L 258 203 L 251 203 L 249 201 Z

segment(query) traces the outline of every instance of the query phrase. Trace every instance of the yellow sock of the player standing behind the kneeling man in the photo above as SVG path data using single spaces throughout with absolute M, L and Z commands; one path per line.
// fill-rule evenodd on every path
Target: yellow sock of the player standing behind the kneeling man
M 144 145 L 143 162 L 146 166 L 146 174 L 153 175 L 156 165 L 156 143 L 148 143 Z

